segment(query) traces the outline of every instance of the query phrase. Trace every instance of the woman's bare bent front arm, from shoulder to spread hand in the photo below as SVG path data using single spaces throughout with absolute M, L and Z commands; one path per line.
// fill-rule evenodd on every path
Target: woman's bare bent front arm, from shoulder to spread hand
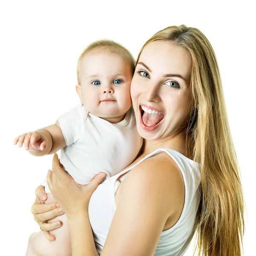
M 53 162 L 56 164 L 56 159 Z M 99 175 L 93 183 L 81 186 L 87 187 L 87 193 L 84 193 L 76 189 L 74 184 L 77 183 L 65 177 L 67 174 L 59 166 L 52 168 L 52 175 L 47 176 L 49 188 L 56 188 L 56 194 L 60 195 L 56 200 L 64 212 L 72 209 L 67 214 L 72 255 L 98 256 L 87 207 L 92 192 L 100 183 L 99 177 L 97 180 Z M 177 212 L 182 211 L 184 193 L 180 170 L 164 153 L 134 167 L 123 183 L 101 256 L 154 255 L 167 218 L 176 216 L 176 220 Z M 84 200 L 83 196 L 87 199 Z

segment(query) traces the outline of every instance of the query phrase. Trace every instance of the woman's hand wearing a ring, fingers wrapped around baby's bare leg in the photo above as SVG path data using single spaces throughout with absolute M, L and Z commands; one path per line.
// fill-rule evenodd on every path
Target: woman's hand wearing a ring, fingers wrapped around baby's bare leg
M 45 204 L 47 194 L 45 193 L 43 186 L 38 186 L 35 194 L 36 198 L 34 204 L 31 207 L 31 212 L 34 215 L 34 219 L 38 223 L 38 225 L 41 224 L 41 229 L 44 230 L 46 238 L 50 241 L 54 241 L 55 236 L 51 235 L 49 231 L 61 227 L 62 222 L 55 221 L 53 223 L 47 223 L 46 221 L 62 215 L 64 212 L 59 212 L 60 208 L 56 202 Z

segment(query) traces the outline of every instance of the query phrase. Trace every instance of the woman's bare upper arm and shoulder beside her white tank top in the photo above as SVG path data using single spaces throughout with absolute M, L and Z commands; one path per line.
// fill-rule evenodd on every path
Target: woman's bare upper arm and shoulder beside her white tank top
M 101 256 L 154 255 L 166 220 L 176 223 L 183 209 L 180 169 L 162 153 L 134 167 L 122 182 Z

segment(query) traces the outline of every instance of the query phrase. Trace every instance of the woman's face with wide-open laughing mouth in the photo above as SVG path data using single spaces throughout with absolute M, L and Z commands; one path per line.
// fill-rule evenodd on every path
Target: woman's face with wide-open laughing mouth
M 186 127 L 192 99 L 191 67 L 187 50 L 172 42 L 158 40 L 143 49 L 131 81 L 141 137 L 166 140 Z

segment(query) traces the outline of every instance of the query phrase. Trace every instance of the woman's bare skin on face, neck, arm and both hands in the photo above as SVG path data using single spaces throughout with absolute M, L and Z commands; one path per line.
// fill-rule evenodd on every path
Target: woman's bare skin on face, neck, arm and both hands
M 137 128 L 145 140 L 141 154 L 131 165 L 158 148 L 174 148 L 189 157 L 189 148 L 186 148 L 182 134 L 191 103 L 188 85 L 192 64 L 189 53 L 171 42 L 155 41 L 143 49 L 139 62 L 143 64 L 136 67 L 131 83 L 131 98 Z M 185 80 L 163 77 L 166 74 L 179 74 Z M 180 89 L 174 88 L 177 84 L 171 81 L 177 82 Z M 156 108 L 164 114 L 160 125 L 153 131 L 146 131 L 140 124 L 140 104 Z M 90 195 L 103 179 L 99 174 L 88 185 L 79 187 L 63 171 L 57 155 L 53 159 L 52 169 L 47 181 L 52 194 L 68 216 L 73 255 L 98 255 L 87 209 Z M 44 194 L 41 186 L 36 194 Z M 166 153 L 151 157 L 131 169 L 116 192 L 116 212 L 101 255 L 118 255 L 120 251 L 122 255 L 153 255 L 161 232 L 172 227 L 179 219 L 184 197 L 180 169 Z M 58 215 L 55 209 L 45 212 L 42 205 L 40 207 L 36 203 L 32 206 L 38 223 L 47 220 L 50 215 L 52 218 Z M 41 227 L 43 230 L 56 228 L 47 223 Z M 132 248 L 130 244 L 133 244 Z

